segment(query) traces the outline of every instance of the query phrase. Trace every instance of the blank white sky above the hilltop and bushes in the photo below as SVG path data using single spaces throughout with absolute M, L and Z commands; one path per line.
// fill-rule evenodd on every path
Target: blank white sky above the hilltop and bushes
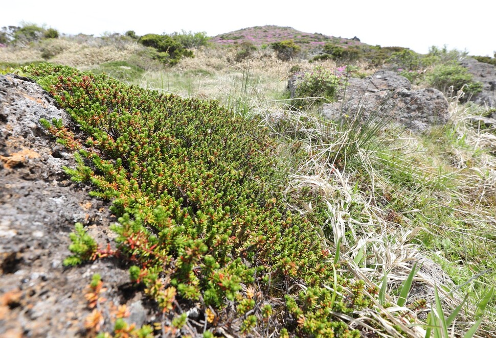
M 129 5 L 128 5 L 129 4 Z M 352 38 L 381 46 L 409 47 L 427 53 L 432 45 L 493 56 L 496 51 L 496 1 L 348 0 L 224 1 L 162 0 L 6 0 L 0 27 L 21 21 L 46 24 L 61 33 L 207 32 L 277 25 L 307 33 Z

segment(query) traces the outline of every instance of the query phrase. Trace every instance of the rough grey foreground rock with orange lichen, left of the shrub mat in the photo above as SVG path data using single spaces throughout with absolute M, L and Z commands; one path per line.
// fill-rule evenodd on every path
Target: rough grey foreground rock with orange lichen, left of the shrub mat
M 108 205 L 88 197 L 87 186 L 64 173 L 63 166 L 75 166 L 73 156 L 38 121 L 58 118 L 71 126 L 70 118 L 47 92 L 25 80 L 0 76 L 0 336 L 83 334 L 91 312 L 84 290 L 94 273 L 107 287 L 107 302 L 127 304 L 131 317 L 143 323 L 142 296 L 128 286 L 127 269 L 116 259 L 62 265 L 75 222 L 106 246 L 115 219 Z

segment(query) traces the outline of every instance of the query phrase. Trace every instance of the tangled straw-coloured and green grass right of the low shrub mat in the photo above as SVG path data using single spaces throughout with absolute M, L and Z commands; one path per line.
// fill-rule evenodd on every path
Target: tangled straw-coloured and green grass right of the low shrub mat
M 317 223 L 323 245 L 335 251 L 340 241 L 348 272 L 370 285 L 379 286 L 387 273 L 386 298 L 393 304 L 413 262 L 423 263 L 408 303 L 423 297 L 435 304 L 437 287 L 449 313 L 468 295 L 455 323 L 458 333 L 474 324 L 477 304 L 496 282 L 493 136 L 469 122 L 461 95 L 450 98 L 447 126 L 425 135 L 385 136 L 388 142 L 374 138 L 374 147 L 358 147 L 342 171 L 333 161 L 346 142 L 339 126 L 303 111 L 264 106 L 255 112 L 286 144 L 281 158 L 294 173 L 286 194 L 300 200 L 291 207 L 307 216 L 318 212 L 315 200 L 327 207 L 327 219 Z M 303 160 L 287 158 L 295 147 L 305 153 Z M 319 198 L 309 202 L 308 190 Z M 425 320 L 426 311 L 414 317 Z M 492 300 L 478 334 L 495 332 L 495 314 Z M 419 330 L 415 335 L 423 336 Z

